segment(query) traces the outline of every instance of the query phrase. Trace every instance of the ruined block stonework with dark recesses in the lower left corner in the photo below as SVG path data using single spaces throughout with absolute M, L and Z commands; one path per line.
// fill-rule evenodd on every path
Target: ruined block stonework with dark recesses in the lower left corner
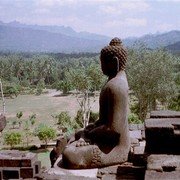
M 37 154 L 17 150 L 0 151 L 0 179 L 35 178 L 41 169 Z

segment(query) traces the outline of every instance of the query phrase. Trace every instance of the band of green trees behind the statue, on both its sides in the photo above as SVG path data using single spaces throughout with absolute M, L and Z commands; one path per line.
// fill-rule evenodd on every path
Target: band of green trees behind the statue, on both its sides
M 127 76 L 131 112 L 144 120 L 157 105 L 180 110 L 180 59 L 163 49 L 135 45 L 128 49 Z M 88 124 L 91 100 L 100 91 L 106 77 L 102 74 L 99 54 L 0 53 L 0 78 L 4 92 L 41 94 L 45 87 L 75 91 Z

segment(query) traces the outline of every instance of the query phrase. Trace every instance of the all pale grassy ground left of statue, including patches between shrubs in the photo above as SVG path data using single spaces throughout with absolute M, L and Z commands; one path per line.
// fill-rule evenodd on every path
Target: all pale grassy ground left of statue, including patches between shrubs
M 98 98 L 96 98 L 96 102 L 93 103 L 92 110 L 94 112 L 98 112 L 99 103 Z M 42 94 L 39 96 L 36 95 L 19 95 L 14 99 L 6 98 L 6 118 L 8 124 L 3 131 L 3 134 L 7 131 L 20 131 L 23 133 L 22 128 L 20 129 L 11 129 L 12 121 L 16 118 L 16 113 L 22 111 L 22 121 L 29 118 L 30 115 L 36 114 L 37 122 L 35 126 L 37 127 L 39 123 L 45 123 L 51 125 L 53 127 L 55 124 L 55 119 L 53 119 L 52 115 L 59 114 L 62 111 L 67 111 L 69 115 L 73 117 L 76 115 L 79 104 L 77 102 L 76 96 L 70 94 L 68 96 L 62 96 L 61 92 L 56 90 L 48 90 L 47 94 Z M 0 107 L 0 110 L 1 107 Z M 0 111 L 1 112 L 1 111 Z M 0 146 L 1 148 L 8 148 L 3 144 L 3 134 L 0 137 Z M 40 141 L 37 137 L 33 137 L 33 141 L 30 143 L 31 145 L 39 145 Z M 22 147 L 26 146 L 21 143 Z M 50 160 L 49 160 L 50 149 L 47 152 L 39 152 L 38 159 L 41 161 L 42 167 L 50 168 Z

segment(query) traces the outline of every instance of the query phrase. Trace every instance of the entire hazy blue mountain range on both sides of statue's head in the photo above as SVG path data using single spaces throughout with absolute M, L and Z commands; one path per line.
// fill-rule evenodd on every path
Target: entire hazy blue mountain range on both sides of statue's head
M 76 32 L 71 27 L 0 21 L 0 51 L 100 52 L 110 39 L 111 37 L 98 34 Z M 123 39 L 127 47 L 131 47 L 137 41 L 143 42 L 149 48 L 168 47 L 173 44 L 176 46 L 180 41 L 180 31 Z

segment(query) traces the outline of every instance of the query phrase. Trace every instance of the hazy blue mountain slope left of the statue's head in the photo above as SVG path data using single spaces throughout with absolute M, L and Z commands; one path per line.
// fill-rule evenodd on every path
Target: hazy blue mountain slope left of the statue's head
M 28 27 L 0 25 L 0 51 L 99 52 L 109 40 L 85 39 Z

